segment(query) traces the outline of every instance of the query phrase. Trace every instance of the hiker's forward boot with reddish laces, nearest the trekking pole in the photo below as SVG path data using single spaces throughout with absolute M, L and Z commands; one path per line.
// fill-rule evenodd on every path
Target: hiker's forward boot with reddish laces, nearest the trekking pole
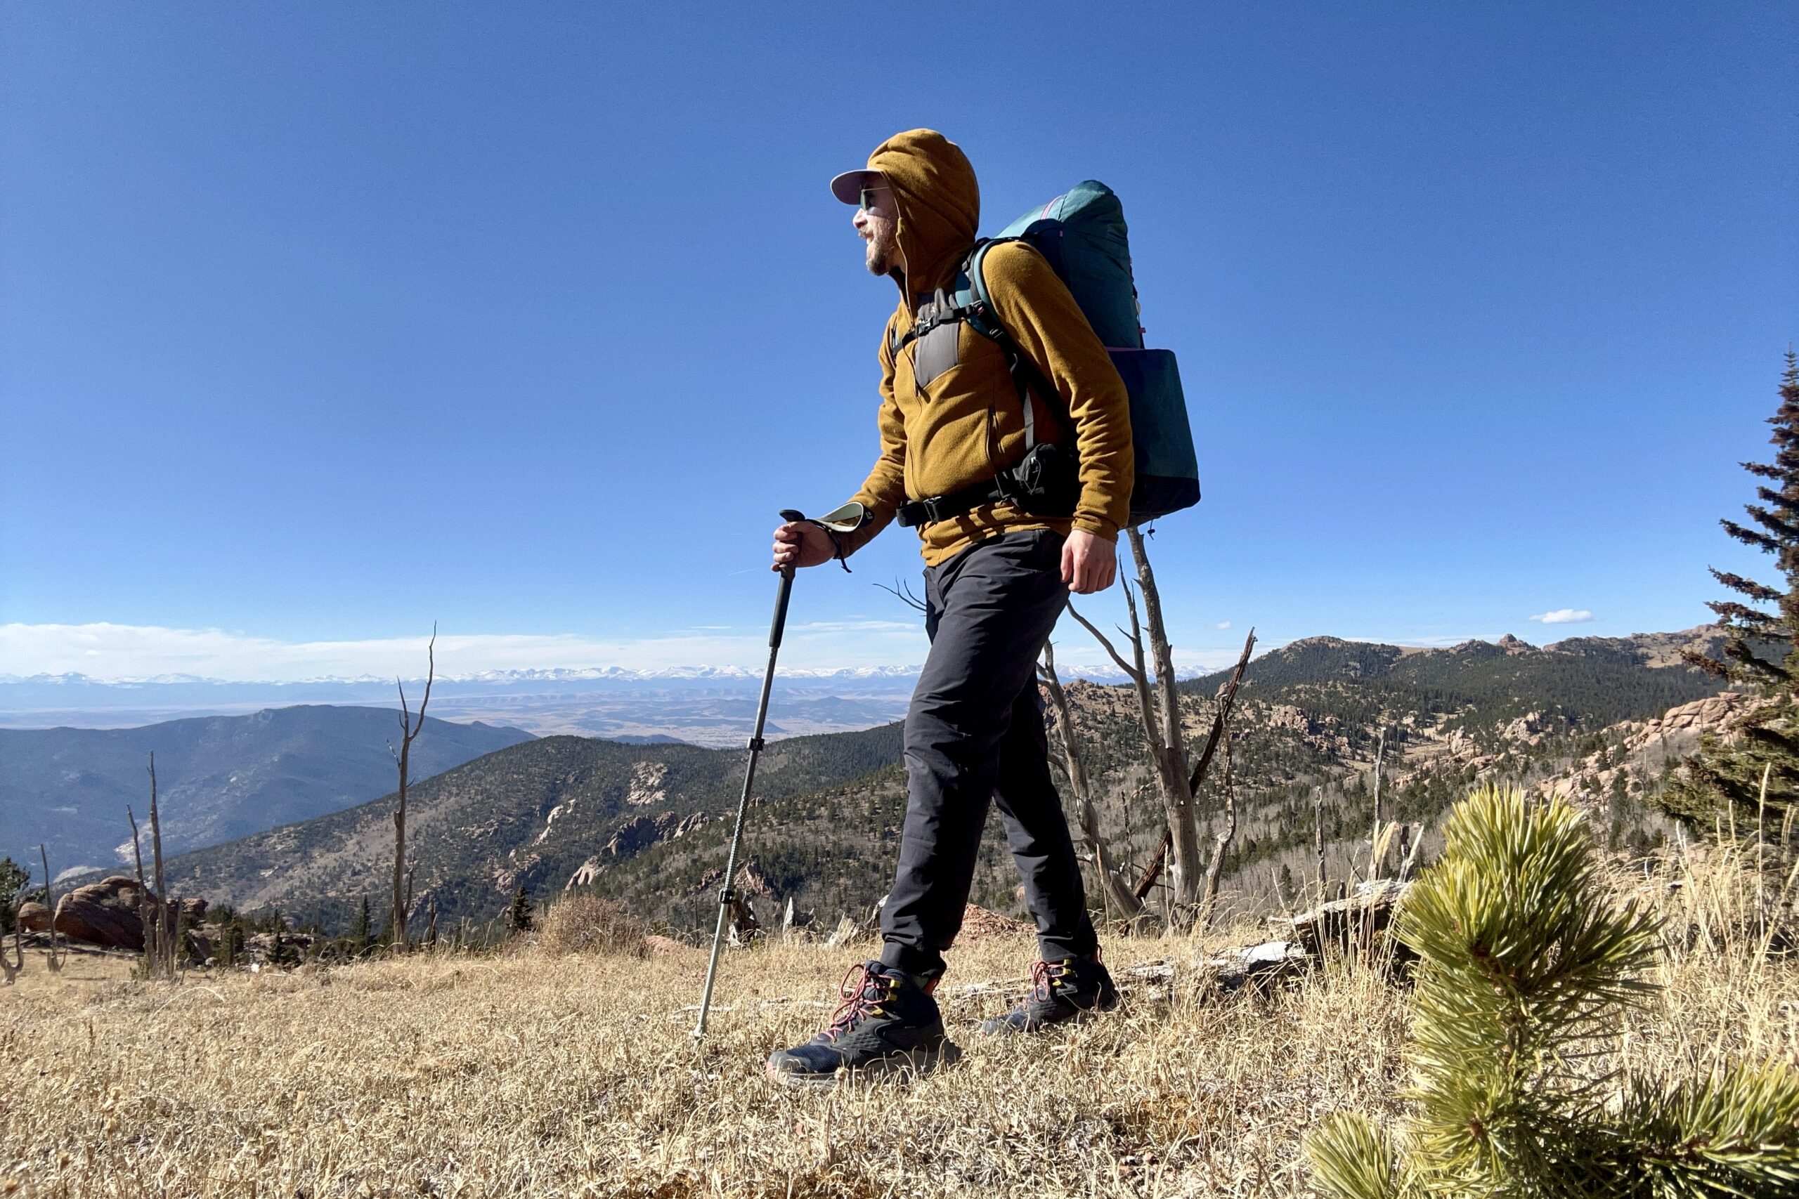
M 937 1001 L 910 974 L 880 962 L 862 962 L 844 974 L 838 994 L 844 1001 L 824 1032 L 806 1044 L 768 1055 L 770 1079 L 788 1086 L 828 1086 L 838 1080 L 840 1071 L 923 1073 L 962 1055 L 943 1035 Z

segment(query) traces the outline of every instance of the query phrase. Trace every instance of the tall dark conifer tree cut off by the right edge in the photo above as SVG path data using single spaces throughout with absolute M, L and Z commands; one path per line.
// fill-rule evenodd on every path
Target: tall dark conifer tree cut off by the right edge
M 1736 541 L 1774 557 L 1777 582 L 1758 582 L 1713 568 L 1713 577 L 1741 599 L 1713 600 L 1725 644 L 1716 658 L 1687 653 L 1702 671 L 1729 679 L 1752 701 L 1725 730 L 1707 735 L 1680 764 L 1660 805 L 1711 829 L 1714 816 L 1779 822 L 1799 796 L 1799 358 L 1786 351 L 1779 408 L 1768 417 L 1774 462 L 1745 462 L 1759 480 L 1758 503 L 1743 505 L 1750 523 L 1718 521 Z M 1767 813 L 1761 780 L 1767 775 Z

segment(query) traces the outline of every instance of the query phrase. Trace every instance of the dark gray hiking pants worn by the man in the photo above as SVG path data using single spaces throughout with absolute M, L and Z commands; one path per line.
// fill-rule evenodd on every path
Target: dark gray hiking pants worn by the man
M 882 962 L 910 974 L 944 969 L 989 800 L 1000 805 L 1043 956 L 1097 947 L 1036 690 L 1036 656 L 1069 600 L 1061 541 L 1011 532 L 925 570 L 930 656 L 905 717 L 910 791 L 882 908 Z

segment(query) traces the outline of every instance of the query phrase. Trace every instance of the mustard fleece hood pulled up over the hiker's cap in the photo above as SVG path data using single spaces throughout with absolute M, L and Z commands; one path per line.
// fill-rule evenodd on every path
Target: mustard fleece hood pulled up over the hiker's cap
M 905 261 L 896 279 L 907 311 L 917 293 L 944 288 L 980 228 L 980 183 L 962 147 L 935 129 L 896 133 L 869 155 L 894 191 L 894 235 Z

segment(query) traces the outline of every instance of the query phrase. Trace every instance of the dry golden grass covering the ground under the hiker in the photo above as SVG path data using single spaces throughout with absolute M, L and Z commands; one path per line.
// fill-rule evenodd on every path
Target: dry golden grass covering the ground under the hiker
M 1725 884 L 1657 893 L 1686 924 L 1741 917 Z M 1403 992 L 1358 969 L 1211 999 L 1184 969 L 1115 1017 L 982 1044 L 968 1025 L 1006 999 L 957 992 L 1022 976 L 1027 938 L 952 955 L 939 998 L 961 1066 L 822 1093 L 766 1082 L 763 1057 L 817 1030 L 853 956 L 732 953 L 698 1055 L 698 949 L 185 983 L 38 967 L 0 992 L 0 1194 L 1299 1195 L 1301 1134 L 1335 1107 L 1392 1113 L 1401 1082 Z M 1108 946 L 1115 965 L 1191 956 L 1180 938 Z M 1664 1001 L 1621 1050 L 1633 1064 L 1799 1059 L 1794 965 L 1725 935 L 1682 940 L 1659 974 Z

